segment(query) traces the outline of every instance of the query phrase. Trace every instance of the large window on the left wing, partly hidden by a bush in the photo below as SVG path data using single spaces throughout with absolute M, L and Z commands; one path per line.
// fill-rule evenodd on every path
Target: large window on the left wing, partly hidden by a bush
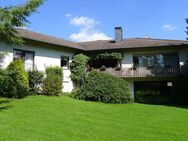
M 34 52 L 14 49 L 13 59 L 21 58 L 24 61 L 25 70 L 33 70 L 34 68 Z

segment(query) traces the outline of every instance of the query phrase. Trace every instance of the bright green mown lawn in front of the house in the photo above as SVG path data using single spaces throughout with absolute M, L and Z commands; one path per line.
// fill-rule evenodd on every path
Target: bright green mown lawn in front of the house
M 69 97 L 0 99 L 2 141 L 187 141 L 188 109 Z

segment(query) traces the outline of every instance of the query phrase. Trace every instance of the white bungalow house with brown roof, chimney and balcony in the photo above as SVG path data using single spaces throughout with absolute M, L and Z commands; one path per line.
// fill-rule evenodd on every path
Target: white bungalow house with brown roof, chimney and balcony
M 16 58 L 25 60 L 26 70 L 36 68 L 44 71 L 47 66 L 61 66 L 64 71 L 63 91 L 65 92 L 73 89 L 69 64 L 72 57 L 78 53 L 92 56 L 104 52 L 121 52 L 123 57 L 119 61 L 93 60 L 90 62 L 90 67 L 98 70 L 105 67 L 103 71 L 127 80 L 132 97 L 136 97 L 143 88 L 155 90 L 156 93 L 169 94 L 174 78 L 188 72 L 186 69 L 188 41 L 123 39 L 121 27 L 115 28 L 114 40 L 80 43 L 25 29 L 18 31 L 26 41 L 24 46 L 8 46 L 0 40 L 0 51 L 8 52 L 3 67 Z

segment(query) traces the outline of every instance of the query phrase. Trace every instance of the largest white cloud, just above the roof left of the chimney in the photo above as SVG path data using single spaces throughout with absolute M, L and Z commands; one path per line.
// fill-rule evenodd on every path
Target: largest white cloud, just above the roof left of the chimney
M 78 42 L 111 39 L 105 33 L 95 29 L 99 23 L 95 19 L 84 16 L 72 18 L 70 24 L 79 27 L 80 32 L 71 34 L 70 38 Z

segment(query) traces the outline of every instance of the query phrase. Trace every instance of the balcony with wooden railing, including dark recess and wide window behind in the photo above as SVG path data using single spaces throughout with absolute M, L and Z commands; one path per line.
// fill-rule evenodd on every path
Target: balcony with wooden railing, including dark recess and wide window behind
M 98 71 L 118 77 L 168 77 L 185 72 L 185 69 L 180 69 L 175 53 L 133 55 L 131 68 L 122 68 L 121 61 L 112 59 L 97 60 L 92 65 Z

